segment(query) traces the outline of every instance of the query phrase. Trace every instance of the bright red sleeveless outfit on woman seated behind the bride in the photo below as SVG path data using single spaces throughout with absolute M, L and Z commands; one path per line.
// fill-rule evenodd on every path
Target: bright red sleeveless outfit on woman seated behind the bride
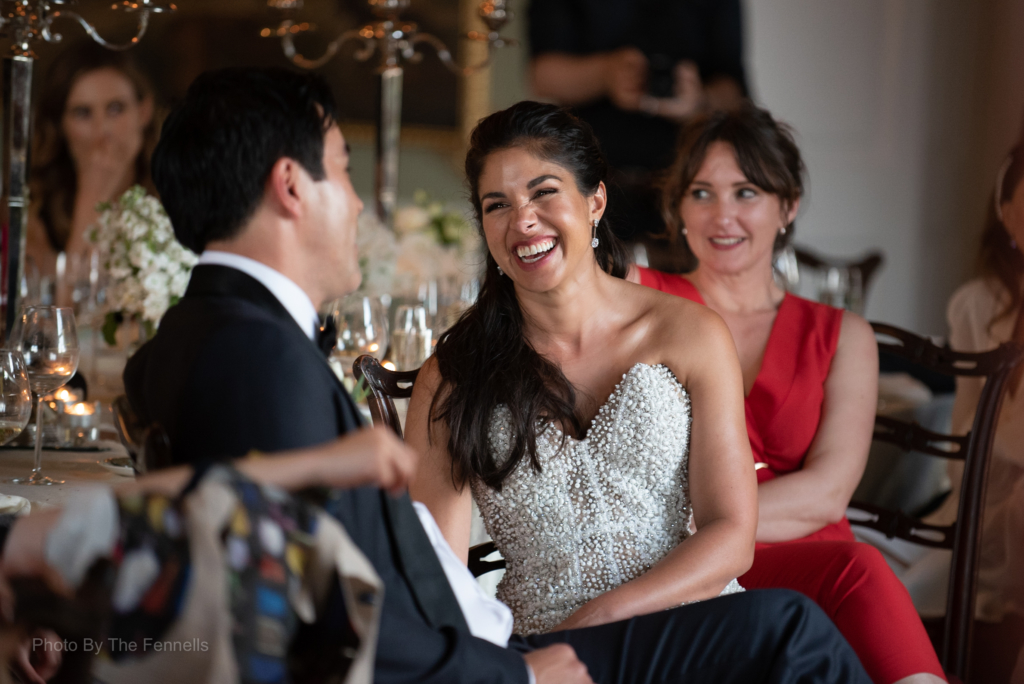
M 703 304 L 681 275 L 639 267 L 640 283 Z M 843 311 L 786 294 L 744 401 L 758 483 L 800 470 L 817 433 L 824 383 Z M 910 595 L 871 546 L 844 519 L 799 540 L 757 544 L 746 589 L 793 589 L 812 598 L 857 652 L 876 684 L 916 673 L 944 679 Z

